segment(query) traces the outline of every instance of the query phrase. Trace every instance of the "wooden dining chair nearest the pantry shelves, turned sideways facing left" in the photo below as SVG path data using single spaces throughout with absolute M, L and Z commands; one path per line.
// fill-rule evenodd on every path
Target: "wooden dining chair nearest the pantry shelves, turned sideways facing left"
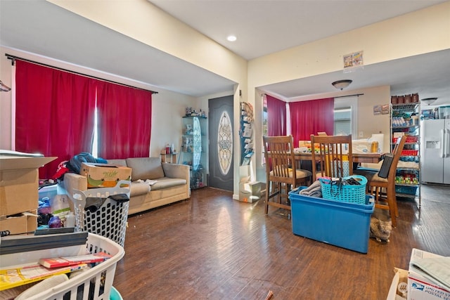
M 397 217 L 399 210 L 397 208 L 397 197 L 395 196 L 395 175 L 397 172 L 397 164 L 401 156 L 401 150 L 406 142 L 406 136 L 397 139 L 397 143 L 392 150 L 392 162 L 390 162 L 387 177 L 380 176 L 380 171 L 359 171 L 358 174 L 366 176 L 368 194 L 375 196 L 375 208 L 387 209 L 390 212 L 392 226 L 397 226 Z M 386 161 L 386 159 L 385 159 Z

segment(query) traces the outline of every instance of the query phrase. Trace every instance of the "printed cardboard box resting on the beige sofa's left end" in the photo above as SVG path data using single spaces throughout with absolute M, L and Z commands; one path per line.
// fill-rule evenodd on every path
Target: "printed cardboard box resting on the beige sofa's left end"
M 86 176 L 88 188 L 114 188 L 117 181 L 131 180 L 131 168 L 115 164 L 82 162 L 79 174 Z

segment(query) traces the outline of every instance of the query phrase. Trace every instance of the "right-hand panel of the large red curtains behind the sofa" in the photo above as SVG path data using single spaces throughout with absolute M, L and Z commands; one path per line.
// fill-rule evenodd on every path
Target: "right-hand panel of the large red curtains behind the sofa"
M 98 156 L 148 157 L 152 93 L 102 82 L 98 87 Z

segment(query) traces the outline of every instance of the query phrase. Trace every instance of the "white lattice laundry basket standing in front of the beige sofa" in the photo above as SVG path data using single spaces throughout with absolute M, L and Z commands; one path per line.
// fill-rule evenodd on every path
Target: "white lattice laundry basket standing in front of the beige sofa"
M 130 186 L 130 181 L 118 181 L 114 188 L 74 190 L 71 200 L 74 202 L 77 230 L 108 237 L 124 247 L 129 201 L 115 201 L 110 196 L 125 194 L 129 199 Z M 96 211 L 85 210 L 89 197 L 97 197 L 104 202 Z

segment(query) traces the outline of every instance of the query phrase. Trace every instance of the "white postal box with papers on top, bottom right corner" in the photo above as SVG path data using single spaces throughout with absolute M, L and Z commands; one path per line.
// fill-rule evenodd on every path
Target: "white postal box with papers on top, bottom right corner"
M 409 261 L 408 272 L 408 300 L 442 300 L 450 299 L 450 289 L 444 287 L 441 282 L 434 280 L 426 271 L 417 268 L 415 263 L 423 259 L 444 258 L 437 254 L 413 249 Z M 437 263 L 439 265 L 439 263 Z M 442 271 L 449 273 L 449 268 L 442 266 Z

